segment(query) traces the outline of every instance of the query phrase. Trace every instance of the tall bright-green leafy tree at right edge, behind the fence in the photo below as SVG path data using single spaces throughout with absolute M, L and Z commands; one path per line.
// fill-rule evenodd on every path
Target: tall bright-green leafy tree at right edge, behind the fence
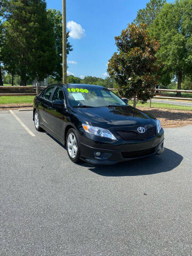
M 183 78 L 190 75 L 192 69 L 191 13 L 192 0 L 165 4 L 150 28 L 150 33 L 161 45 L 157 57 L 172 76 L 177 77 L 178 90 L 181 89 Z

